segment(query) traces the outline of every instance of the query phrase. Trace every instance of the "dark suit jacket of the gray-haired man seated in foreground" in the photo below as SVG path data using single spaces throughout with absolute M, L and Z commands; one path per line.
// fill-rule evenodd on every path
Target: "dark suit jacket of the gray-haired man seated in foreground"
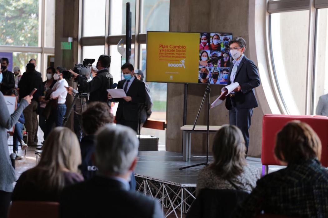
M 91 180 L 64 188 L 60 199 L 60 217 L 140 217 L 162 218 L 157 200 L 124 184 L 95 176 Z

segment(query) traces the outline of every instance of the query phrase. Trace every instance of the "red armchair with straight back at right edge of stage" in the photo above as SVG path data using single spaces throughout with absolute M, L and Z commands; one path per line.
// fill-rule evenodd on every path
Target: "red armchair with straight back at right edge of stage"
M 297 116 L 266 114 L 262 123 L 262 154 L 263 174 L 266 175 L 269 165 L 280 165 L 275 159 L 274 148 L 277 133 L 289 121 L 300 120 L 309 124 L 317 133 L 322 144 L 321 164 L 328 167 L 328 117 L 326 116 Z

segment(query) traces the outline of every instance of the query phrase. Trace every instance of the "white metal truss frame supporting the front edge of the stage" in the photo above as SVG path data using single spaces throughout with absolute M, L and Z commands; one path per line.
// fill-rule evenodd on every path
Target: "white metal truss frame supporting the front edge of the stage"
M 168 217 L 174 212 L 175 217 L 186 214 L 191 204 L 196 198 L 196 184 L 179 184 L 171 181 L 162 181 L 144 175 L 135 175 L 135 180 L 139 192 L 157 198 L 165 212 L 164 217 Z

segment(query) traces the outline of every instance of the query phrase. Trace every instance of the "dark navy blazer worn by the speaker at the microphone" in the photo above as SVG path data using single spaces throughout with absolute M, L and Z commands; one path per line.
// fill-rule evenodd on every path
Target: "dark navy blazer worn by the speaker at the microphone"
M 228 74 L 228 85 L 231 84 L 230 75 L 234 64 L 230 64 Z M 229 96 L 226 99 L 225 105 L 228 110 L 232 106 L 236 108 L 254 108 L 257 107 L 254 88 L 261 84 L 260 77 L 258 76 L 257 67 L 253 61 L 249 60 L 246 56 L 241 59 L 238 65 L 235 81 L 238 82 L 241 90 L 235 93 L 234 98 Z

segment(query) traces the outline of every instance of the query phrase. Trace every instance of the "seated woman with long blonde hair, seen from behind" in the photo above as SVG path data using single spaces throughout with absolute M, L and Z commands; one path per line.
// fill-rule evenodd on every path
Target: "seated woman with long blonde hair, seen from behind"
M 38 165 L 19 177 L 12 201 L 58 201 L 65 186 L 83 181 L 79 141 L 66 127 L 56 127 L 43 145 Z

